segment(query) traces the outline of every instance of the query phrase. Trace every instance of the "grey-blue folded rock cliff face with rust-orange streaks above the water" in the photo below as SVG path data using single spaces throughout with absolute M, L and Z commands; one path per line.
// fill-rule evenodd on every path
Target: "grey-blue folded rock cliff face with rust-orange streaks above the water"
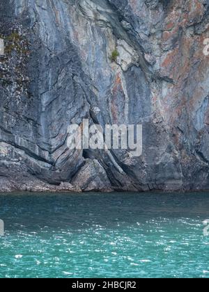
M 0 190 L 209 189 L 208 21 L 208 0 L 1 0 Z M 143 124 L 142 156 L 68 149 L 84 118 Z

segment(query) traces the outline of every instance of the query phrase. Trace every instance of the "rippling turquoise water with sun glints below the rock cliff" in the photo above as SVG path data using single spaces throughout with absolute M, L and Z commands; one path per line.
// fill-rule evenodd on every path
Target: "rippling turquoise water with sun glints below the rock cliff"
M 209 277 L 209 194 L 0 195 L 0 277 Z

